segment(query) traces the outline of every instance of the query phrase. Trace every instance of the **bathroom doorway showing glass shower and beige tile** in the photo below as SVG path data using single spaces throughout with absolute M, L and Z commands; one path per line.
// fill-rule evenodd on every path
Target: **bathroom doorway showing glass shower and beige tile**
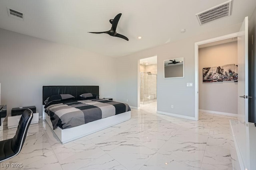
M 140 59 L 140 104 L 157 100 L 157 56 Z

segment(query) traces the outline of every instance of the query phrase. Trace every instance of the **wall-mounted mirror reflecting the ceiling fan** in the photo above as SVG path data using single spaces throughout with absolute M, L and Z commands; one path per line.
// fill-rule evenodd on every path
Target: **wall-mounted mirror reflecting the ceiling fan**
M 164 78 L 184 77 L 184 57 L 164 61 Z

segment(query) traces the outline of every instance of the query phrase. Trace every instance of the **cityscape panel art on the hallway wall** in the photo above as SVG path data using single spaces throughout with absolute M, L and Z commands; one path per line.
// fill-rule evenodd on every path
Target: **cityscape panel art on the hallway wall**
M 235 64 L 226 64 L 223 66 L 214 66 L 203 68 L 203 82 L 223 82 L 238 80 L 238 66 Z

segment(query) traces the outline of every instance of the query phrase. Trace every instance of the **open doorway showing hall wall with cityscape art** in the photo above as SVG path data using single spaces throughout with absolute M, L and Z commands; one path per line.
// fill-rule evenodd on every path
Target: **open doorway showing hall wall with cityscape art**
M 237 117 L 237 37 L 199 45 L 198 47 L 199 113 Z

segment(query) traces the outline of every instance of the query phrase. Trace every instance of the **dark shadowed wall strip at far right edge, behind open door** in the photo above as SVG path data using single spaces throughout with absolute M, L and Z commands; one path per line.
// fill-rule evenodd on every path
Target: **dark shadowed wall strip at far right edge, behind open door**
M 256 8 L 249 20 L 249 121 L 256 123 Z M 253 38 L 252 38 L 253 35 Z M 253 39 L 253 44 L 252 44 Z

